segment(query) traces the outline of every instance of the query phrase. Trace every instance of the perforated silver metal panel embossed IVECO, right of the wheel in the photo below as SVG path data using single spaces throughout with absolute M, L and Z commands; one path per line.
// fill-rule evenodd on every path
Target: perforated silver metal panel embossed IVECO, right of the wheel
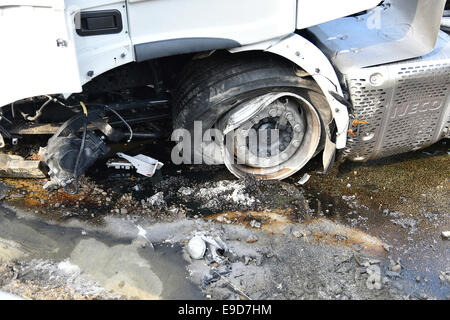
M 346 158 L 367 161 L 448 137 L 450 46 L 446 47 L 447 52 L 346 75 L 355 118 L 368 122 L 350 123 L 356 136 L 348 136 Z

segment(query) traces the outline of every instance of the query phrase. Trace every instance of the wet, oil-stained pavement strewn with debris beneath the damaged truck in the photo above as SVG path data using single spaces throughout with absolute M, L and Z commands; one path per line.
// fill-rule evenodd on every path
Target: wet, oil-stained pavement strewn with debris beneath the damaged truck
M 45 298 L 24 293 L 34 281 L 29 288 L 70 289 L 47 298 L 449 299 L 441 236 L 450 229 L 449 143 L 344 162 L 327 175 L 316 159 L 283 182 L 173 166 L 170 145 L 146 143 L 128 152 L 166 164 L 152 180 L 106 169 L 105 160 L 76 196 L 47 194 L 43 180 L 3 179 L 0 290 Z M 220 236 L 239 257 L 208 285 L 211 265 L 185 251 L 195 232 Z M 368 283 L 377 268 L 382 289 Z M 29 269 L 41 271 L 22 277 Z

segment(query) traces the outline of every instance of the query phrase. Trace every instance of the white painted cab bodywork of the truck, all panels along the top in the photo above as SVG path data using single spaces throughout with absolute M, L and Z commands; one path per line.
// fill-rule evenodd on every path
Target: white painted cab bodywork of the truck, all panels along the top
M 135 45 L 212 38 L 244 46 L 281 38 L 296 26 L 354 13 L 374 2 L 337 6 L 342 1 L 4 0 L 0 41 L 8 47 L 0 53 L 0 70 L 7 76 L 0 77 L 0 106 L 36 95 L 80 92 L 94 77 L 135 61 Z M 84 37 L 76 33 L 78 12 L 110 9 L 121 13 L 120 33 Z M 58 47 L 57 39 L 66 46 Z

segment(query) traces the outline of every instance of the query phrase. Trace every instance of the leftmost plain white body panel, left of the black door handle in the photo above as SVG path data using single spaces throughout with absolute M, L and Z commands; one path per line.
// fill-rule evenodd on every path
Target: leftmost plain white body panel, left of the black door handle
M 27 3 L 39 6 L 0 3 L 0 106 L 36 95 L 81 91 L 64 1 Z M 58 39 L 64 44 L 58 46 Z

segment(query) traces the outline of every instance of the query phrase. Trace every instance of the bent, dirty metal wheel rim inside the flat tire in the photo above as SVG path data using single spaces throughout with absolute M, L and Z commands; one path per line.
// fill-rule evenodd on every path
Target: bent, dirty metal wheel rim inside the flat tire
M 320 118 L 305 98 L 291 92 L 254 98 L 216 124 L 224 135 L 223 160 L 237 177 L 284 179 L 302 168 L 320 141 Z M 230 143 L 232 141 L 232 143 Z

